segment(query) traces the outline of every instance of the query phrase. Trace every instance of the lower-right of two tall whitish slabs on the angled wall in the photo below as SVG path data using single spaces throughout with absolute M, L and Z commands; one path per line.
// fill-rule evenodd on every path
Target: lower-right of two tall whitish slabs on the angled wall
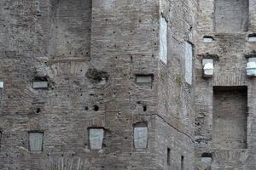
M 189 42 L 185 42 L 185 81 L 192 84 L 193 47 Z

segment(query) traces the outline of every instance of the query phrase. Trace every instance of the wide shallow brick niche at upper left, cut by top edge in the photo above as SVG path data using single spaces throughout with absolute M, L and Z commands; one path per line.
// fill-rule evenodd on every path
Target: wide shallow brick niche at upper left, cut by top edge
M 50 18 L 53 20 L 49 54 L 59 58 L 70 56 L 89 59 L 92 0 L 54 0 L 53 2 L 55 3 L 51 7 Z

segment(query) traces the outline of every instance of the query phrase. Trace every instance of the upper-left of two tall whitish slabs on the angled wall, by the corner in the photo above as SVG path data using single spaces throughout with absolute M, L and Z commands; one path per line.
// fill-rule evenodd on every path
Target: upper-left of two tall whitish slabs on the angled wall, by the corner
M 160 17 L 160 60 L 167 64 L 167 22 Z

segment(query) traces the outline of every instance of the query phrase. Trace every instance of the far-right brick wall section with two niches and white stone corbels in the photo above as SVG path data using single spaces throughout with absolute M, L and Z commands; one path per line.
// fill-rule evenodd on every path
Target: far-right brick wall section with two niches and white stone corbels
M 219 4 L 223 5 L 219 6 Z M 226 8 L 224 8 L 225 5 L 227 6 Z M 238 11 L 240 12 L 236 10 L 236 14 L 240 14 L 243 19 L 232 15 L 234 8 L 239 9 Z M 196 38 L 197 55 L 195 60 L 195 111 L 197 115 L 195 119 L 195 159 L 196 168 L 198 169 L 255 168 L 255 163 L 253 162 L 253 159 L 255 159 L 253 154 L 253 150 L 255 150 L 255 134 L 253 133 L 253 124 L 255 123 L 253 118 L 255 116 L 255 80 L 254 78 L 247 77 L 246 74 L 248 58 L 253 56 L 253 50 L 256 47 L 254 42 L 248 41 L 248 35 L 255 31 L 254 22 L 256 18 L 254 9 L 254 1 L 236 1 L 236 3 L 232 4 L 230 1 L 220 0 L 199 1 L 198 26 L 196 29 L 198 34 Z M 224 14 L 223 19 L 226 21 L 218 20 L 220 18 L 216 18 L 217 13 L 220 15 Z M 236 20 L 227 20 L 229 17 L 236 17 Z M 236 26 L 233 25 L 237 20 L 240 20 L 242 26 L 238 24 Z M 219 24 L 218 26 L 216 26 L 217 23 Z M 247 29 L 244 29 L 244 26 Z M 216 29 L 217 27 L 218 29 Z M 206 42 L 204 37 L 211 37 L 212 42 Z M 203 77 L 202 59 L 213 59 L 213 77 Z M 227 102 L 227 105 L 224 107 L 230 105 L 230 110 L 228 111 L 232 111 L 232 109 L 237 107 L 232 113 L 234 116 L 227 118 L 226 126 L 223 127 L 223 132 L 229 132 L 228 135 L 223 137 L 224 142 L 230 141 L 232 144 L 233 142 L 236 144 L 236 141 L 239 140 L 240 137 L 230 139 L 229 135 L 232 136 L 231 138 L 235 137 L 236 135 L 232 135 L 233 130 L 238 130 L 241 127 L 240 123 L 236 122 L 236 113 L 242 110 L 247 114 L 247 124 L 242 125 L 244 126 L 243 128 L 246 128 L 242 131 L 247 131 L 246 137 L 243 138 L 244 141 L 247 140 L 247 147 L 231 149 L 232 144 L 229 147 L 221 144 L 221 147 L 218 149 L 215 147 L 214 143 L 218 139 L 213 139 L 216 138 L 216 135 L 214 135 L 214 122 L 219 122 L 218 116 L 220 115 L 218 114 L 220 114 L 222 109 L 218 110 L 218 107 L 224 104 L 224 102 L 220 102 L 221 100 L 214 100 L 216 96 L 214 97 L 213 88 L 216 87 L 236 88 L 235 93 L 224 97 L 224 102 Z M 236 95 L 241 87 L 247 88 L 247 98 L 238 97 L 239 99 L 235 99 L 234 95 Z M 227 92 L 225 91 L 225 93 Z M 234 99 L 234 101 L 231 99 Z M 241 105 L 244 102 L 247 102 L 247 107 Z M 223 116 L 228 116 L 228 113 L 223 114 Z M 215 121 L 214 117 L 217 117 Z M 229 121 L 233 121 L 237 125 L 236 129 L 229 126 Z M 212 164 L 202 161 L 204 160 L 203 156 L 207 155 L 211 155 Z

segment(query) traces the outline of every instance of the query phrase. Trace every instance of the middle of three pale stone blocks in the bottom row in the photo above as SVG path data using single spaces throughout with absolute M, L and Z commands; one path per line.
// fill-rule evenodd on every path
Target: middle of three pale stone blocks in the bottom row
M 104 129 L 102 127 L 89 128 L 90 150 L 102 150 Z

